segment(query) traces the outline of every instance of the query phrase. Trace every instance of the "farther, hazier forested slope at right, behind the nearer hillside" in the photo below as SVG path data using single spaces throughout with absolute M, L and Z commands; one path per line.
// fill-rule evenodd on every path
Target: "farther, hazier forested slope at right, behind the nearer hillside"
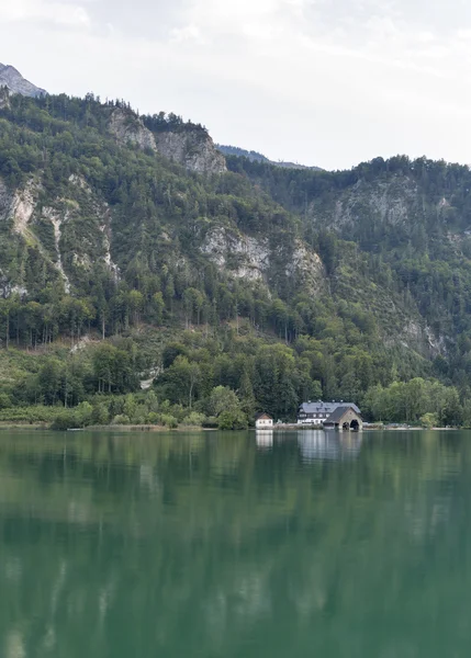
M 405 156 L 340 172 L 278 170 L 246 158 L 228 163 L 302 218 L 305 239 L 334 281 L 343 239 L 355 241 L 368 277 L 402 294 L 435 337 L 447 340 L 447 375 L 464 383 L 471 336 L 469 167 Z

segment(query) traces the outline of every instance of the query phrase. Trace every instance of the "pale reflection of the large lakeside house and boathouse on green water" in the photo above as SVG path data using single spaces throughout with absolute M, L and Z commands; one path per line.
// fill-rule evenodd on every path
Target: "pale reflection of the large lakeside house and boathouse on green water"
M 360 454 L 361 434 L 300 430 L 298 443 L 303 462 L 355 460 Z

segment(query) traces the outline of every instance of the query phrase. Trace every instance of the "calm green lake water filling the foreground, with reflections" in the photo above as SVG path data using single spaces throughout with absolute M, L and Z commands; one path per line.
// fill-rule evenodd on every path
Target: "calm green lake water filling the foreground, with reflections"
M 2 658 L 455 658 L 471 433 L 0 434 Z

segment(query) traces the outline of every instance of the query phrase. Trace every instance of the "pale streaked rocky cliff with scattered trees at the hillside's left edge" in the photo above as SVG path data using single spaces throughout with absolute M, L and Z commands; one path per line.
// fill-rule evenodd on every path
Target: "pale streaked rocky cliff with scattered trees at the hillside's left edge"
M 1 259 L 0 293 L 30 292 L 27 270 L 35 265 L 43 272 L 44 284 L 54 282 L 66 293 L 77 291 L 92 266 L 102 264 L 114 277 L 119 268 L 111 257 L 111 212 L 81 177 L 70 175 L 66 194 L 44 204 L 41 178 L 31 178 L 12 191 L 0 179 L 0 230 L 3 249 L 15 250 L 24 258 Z

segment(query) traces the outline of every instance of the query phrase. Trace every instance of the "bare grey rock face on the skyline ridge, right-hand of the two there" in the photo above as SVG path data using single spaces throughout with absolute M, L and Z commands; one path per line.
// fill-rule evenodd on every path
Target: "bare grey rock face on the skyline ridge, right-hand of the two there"
M 210 135 L 199 127 L 159 133 L 156 140 L 159 154 L 189 171 L 206 174 L 227 171 L 226 159 Z

